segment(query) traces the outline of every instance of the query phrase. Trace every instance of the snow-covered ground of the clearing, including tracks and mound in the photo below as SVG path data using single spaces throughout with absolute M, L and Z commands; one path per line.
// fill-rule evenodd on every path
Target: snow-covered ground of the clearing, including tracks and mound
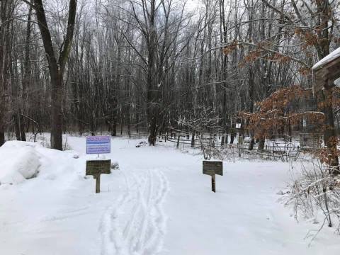
M 120 169 L 101 176 L 99 194 L 85 178 L 86 159 L 94 158 L 85 154 L 85 137 L 68 137 L 66 152 L 7 142 L 0 148 L 0 254 L 339 254 L 335 227 L 308 246 L 307 231 L 320 224 L 296 222 L 278 202 L 289 164 L 224 162 L 212 193 L 200 155 L 169 142 L 135 147 L 140 141 L 111 141 L 106 159 Z

